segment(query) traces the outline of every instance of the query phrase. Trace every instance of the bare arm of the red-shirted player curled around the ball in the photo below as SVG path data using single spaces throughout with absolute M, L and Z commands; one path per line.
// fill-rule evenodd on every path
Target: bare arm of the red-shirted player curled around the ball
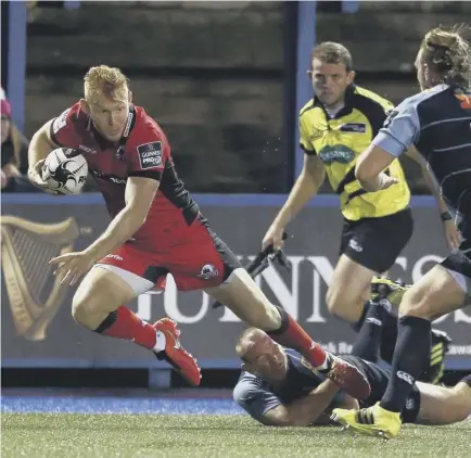
M 48 120 L 31 138 L 28 149 L 28 178 L 29 180 L 48 190 L 47 182 L 42 179 L 41 168 L 48 154 L 59 148 L 51 139 L 51 123 L 53 119 Z

